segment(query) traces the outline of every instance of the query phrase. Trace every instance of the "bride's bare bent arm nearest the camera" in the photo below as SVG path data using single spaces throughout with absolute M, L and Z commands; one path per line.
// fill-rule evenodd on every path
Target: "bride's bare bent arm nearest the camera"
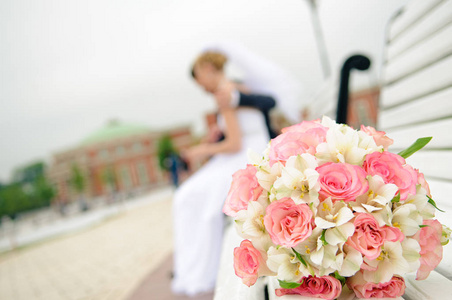
M 237 120 L 235 109 L 222 109 L 220 111 L 220 114 L 223 116 L 223 119 L 226 123 L 224 140 L 217 143 L 201 144 L 189 149 L 185 153 L 188 159 L 198 160 L 218 153 L 233 153 L 239 151 L 242 148 L 242 133 Z

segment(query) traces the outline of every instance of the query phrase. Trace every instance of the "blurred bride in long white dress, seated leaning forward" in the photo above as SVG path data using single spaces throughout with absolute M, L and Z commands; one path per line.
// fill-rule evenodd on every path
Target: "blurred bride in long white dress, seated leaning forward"
M 241 89 L 226 78 L 226 61 L 222 53 L 207 51 L 196 59 L 193 67 L 196 82 L 216 98 L 217 104 L 222 103 L 222 98 L 234 98 Z M 174 196 L 172 290 L 177 294 L 193 296 L 215 287 L 225 218 L 222 207 L 232 174 L 246 166 L 248 149 L 260 153 L 269 141 L 261 111 L 232 106 L 218 107 L 218 123 L 224 139 L 200 144 L 185 153 L 191 161 L 212 158 Z

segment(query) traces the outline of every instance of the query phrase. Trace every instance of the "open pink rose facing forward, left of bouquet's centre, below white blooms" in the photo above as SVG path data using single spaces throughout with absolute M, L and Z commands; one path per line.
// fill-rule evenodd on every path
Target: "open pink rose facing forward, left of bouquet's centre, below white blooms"
M 267 206 L 264 217 L 265 229 L 277 245 L 294 247 L 312 233 L 312 211 L 305 203 L 295 204 L 283 198 Z

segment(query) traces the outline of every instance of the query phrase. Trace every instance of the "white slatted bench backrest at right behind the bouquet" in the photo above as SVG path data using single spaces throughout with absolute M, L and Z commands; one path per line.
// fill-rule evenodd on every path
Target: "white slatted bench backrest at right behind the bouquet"
M 378 129 L 397 153 L 417 138 L 431 142 L 407 162 L 426 175 L 433 199 L 452 227 L 452 0 L 413 0 L 387 28 Z M 452 279 L 451 246 L 437 269 Z

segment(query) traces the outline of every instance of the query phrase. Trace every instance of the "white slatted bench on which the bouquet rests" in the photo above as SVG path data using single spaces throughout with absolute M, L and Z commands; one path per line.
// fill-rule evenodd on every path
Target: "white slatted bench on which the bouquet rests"
M 394 139 L 390 150 L 395 153 L 419 137 L 433 136 L 425 149 L 407 162 L 425 174 L 434 200 L 446 211 L 437 211 L 436 218 L 452 228 L 452 0 L 413 0 L 397 12 L 387 27 L 383 69 L 377 129 Z M 321 115 L 335 118 L 339 90 L 335 82 L 327 81 L 311 101 L 309 119 Z M 232 267 L 231 249 L 240 243 L 233 233 L 233 226 L 228 226 L 215 300 L 264 299 L 265 280 L 270 300 L 300 299 L 276 297 L 277 283 L 271 278 L 252 288 L 243 285 Z M 414 274 L 406 276 L 403 299 L 452 297 L 451 247 L 444 247 L 443 260 L 428 279 L 416 281 Z

